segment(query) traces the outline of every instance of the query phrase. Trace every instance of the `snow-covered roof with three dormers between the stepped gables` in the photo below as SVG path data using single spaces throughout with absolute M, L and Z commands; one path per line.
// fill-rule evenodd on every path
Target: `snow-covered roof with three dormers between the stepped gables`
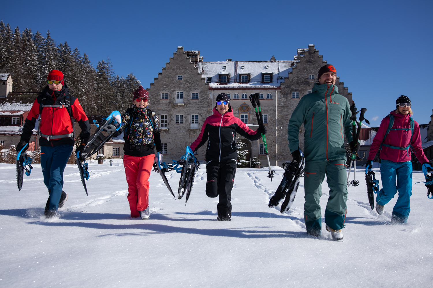
M 299 61 L 221 61 L 195 62 L 194 65 L 202 77 L 211 77 L 211 88 L 277 88 L 284 82 L 284 77 L 288 77 L 292 67 L 296 67 L 297 62 Z M 238 75 L 235 75 L 236 63 Z M 272 74 L 272 82 L 262 82 L 262 74 L 265 73 Z M 229 74 L 227 84 L 218 83 L 219 74 Z M 249 82 L 239 83 L 239 74 L 249 74 Z

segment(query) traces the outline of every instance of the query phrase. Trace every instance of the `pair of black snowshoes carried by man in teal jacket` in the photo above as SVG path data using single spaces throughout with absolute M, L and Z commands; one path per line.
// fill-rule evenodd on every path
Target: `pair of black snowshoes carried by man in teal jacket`
M 292 206 L 301 177 L 304 177 L 305 158 L 301 149 L 299 151 L 301 152 L 302 157 L 301 162 L 293 160 L 290 163 L 284 163 L 283 180 L 281 180 L 275 195 L 269 200 L 269 208 L 274 208 L 278 206 L 285 197 L 284 202 L 281 205 L 281 214 L 287 213 Z

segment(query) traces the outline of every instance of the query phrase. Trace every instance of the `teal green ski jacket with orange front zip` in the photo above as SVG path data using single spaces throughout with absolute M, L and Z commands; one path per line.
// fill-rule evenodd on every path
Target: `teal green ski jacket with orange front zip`
M 290 152 L 299 146 L 299 129 L 304 124 L 304 156 L 306 161 L 346 160 L 344 136 L 352 141 L 349 101 L 331 84 L 314 84 L 310 94 L 297 104 L 289 120 Z

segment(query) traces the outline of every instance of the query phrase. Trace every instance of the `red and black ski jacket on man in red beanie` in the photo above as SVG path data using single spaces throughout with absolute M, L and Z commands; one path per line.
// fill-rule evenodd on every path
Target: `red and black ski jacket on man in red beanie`
M 64 85 L 59 92 L 50 90 L 48 88 L 48 85 L 45 87 L 41 95 L 39 95 L 33 102 L 32 109 L 30 110 L 29 116 L 24 123 L 21 140 L 24 140 L 26 142 L 30 141 L 30 137 L 32 136 L 32 130 L 35 128 L 36 119 L 39 116 L 41 105 L 45 105 L 45 107 L 42 108 L 41 120 L 39 122 L 40 133 L 43 134 L 39 138 L 39 145 L 74 145 L 74 137 L 72 136 L 49 140 L 47 140 L 46 137 L 67 135 L 74 132 L 72 119 L 69 115 L 68 109 L 66 108 L 66 100 L 68 99 L 69 103 L 71 104 L 72 117 L 78 122 L 78 125 L 80 125 L 81 128 L 81 141 L 87 143 L 90 137 L 89 119 L 87 119 L 87 116 L 84 113 L 78 99 L 76 97 L 72 97 L 69 94 L 69 90 L 66 85 Z

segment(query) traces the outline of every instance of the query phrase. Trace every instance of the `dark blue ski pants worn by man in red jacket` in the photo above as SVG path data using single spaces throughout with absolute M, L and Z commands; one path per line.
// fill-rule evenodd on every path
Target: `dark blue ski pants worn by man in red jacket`
M 51 190 L 50 209 L 57 211 L 63 189 L 63 171 L 71 156 L 72 145 L 41 146 L 41 166 L 44 184 Z

